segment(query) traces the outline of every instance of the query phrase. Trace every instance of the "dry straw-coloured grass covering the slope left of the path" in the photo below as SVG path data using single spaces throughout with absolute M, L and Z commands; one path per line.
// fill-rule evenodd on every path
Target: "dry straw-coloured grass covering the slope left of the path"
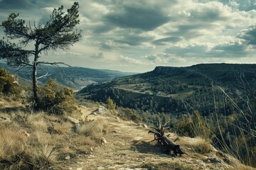
M 11 119 L 0 122 L 0 169 L 56 167 L 67 156 L 75 159 L 90 153 L 107 130 L 105 120 L 85 122 L 76 133 L 65 116 L 23 111 L 0 112 L 0 116 Z

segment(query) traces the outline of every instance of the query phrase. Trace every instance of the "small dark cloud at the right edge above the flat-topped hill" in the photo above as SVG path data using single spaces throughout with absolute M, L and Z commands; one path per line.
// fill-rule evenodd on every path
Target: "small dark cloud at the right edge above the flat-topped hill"
M 248 45 L 256 45 L 256 27 L 242 30 L 237 37 L 245 40 Z

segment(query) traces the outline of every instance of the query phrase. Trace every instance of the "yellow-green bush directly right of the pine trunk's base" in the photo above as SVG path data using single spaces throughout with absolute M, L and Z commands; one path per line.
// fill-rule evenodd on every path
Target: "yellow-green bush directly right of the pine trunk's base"
M 49 114 L 63 115 L 76 109 L 73 90 L 48 79 L 43 87 L 38 88 L 39 108 Z

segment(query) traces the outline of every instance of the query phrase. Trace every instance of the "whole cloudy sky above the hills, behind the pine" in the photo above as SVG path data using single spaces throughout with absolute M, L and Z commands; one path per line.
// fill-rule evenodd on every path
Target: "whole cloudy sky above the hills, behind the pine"
M 71 0 L 0 0 L 0 21 L 48 21 Z M 78 0 L 82 39 L 41 60 L 147 72 L 156 66 L 256 63 L 256 0 Z M 0 36 L 4 36 L 0 30 Z

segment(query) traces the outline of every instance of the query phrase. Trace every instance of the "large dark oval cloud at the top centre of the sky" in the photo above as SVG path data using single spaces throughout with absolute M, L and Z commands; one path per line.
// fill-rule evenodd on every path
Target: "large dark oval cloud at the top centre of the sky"
M 120 28 L 138 28 L 148 31 L 154 30 L 169 21 L 166 13 L 159 8 L 154 8 L 154 6 L 134 4 L 116 7 L 116 11 L 112 11 L 105 16 L 105 22 L 110 22 Z

